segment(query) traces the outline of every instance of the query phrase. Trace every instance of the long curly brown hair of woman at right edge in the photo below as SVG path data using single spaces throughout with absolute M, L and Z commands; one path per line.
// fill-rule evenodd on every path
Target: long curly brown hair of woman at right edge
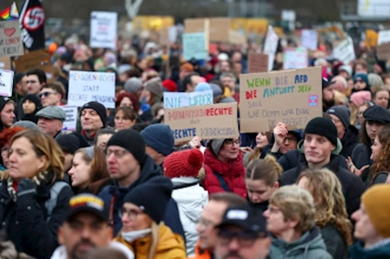
M 388 172 L 390 169 L 390 127 L 386 126 L 378 132 L 379 143 L 382 148 L 378 159 L 370 168 L 370 185 L 375 180 L 375 177 L 381 172 Z

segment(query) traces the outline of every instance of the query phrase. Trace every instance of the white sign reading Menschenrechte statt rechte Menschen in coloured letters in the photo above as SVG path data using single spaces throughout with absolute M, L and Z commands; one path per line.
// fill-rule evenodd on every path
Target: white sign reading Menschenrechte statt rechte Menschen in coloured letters
M 81 107 L 91 101 L 115 108 L 115 73 L 69 72 L 68 105 Z

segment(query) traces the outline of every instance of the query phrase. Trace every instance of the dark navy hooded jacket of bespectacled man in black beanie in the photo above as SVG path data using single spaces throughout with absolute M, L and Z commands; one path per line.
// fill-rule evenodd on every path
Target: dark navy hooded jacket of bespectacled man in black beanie
M 140 183 L 144 183 L 154 176 L 161 176 L 160 172 L 161 169 L 154 164 L 154 161 L 151 159 L 151 157 L 147 156 L 146 162 L 141 169 L 140 177 L 129 187 L 120 187 L 118 182 L 113 180 L 112 185 L 106 186 L 98 194 L 98 196 L 103 199 L 105 206 L 113 215 L 114 235 L 116 235 L 122 228 L 122 221 L 119 217 L 118 211 L 122 208 L 124 196 L 129 192 L 129 190 L 133 189 Z M 114 203 L 113 211 L 110 210 L 110 205 L 112 202 Z M 184 231 L 180 222 L 179 211 L 177 209 L 176 202 L 173 199 L 170 199 L 167 204 L 167 211 L 165 212 L 164 222 L 172 229 L 172 231 L 174 231 L 174 233 L 178 233 L 184 238 Z

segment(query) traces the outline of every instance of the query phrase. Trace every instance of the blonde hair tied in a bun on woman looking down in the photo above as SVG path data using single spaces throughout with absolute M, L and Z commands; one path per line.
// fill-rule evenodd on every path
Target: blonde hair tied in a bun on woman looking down
M 254 159 L 246 167 L 245 179 L 263 180 L 266 185 L 273 187 L 282 176 L 283 169 L 273 155 L 264 159 Z

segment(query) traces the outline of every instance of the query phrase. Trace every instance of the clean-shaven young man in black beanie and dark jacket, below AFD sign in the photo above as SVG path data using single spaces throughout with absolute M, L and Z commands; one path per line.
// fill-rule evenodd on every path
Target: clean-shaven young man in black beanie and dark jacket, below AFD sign
M 347 212 L 351 215 L 359 208 L 360 196 L 365 191 L 365 187 L 360 177 L 340 167 L 338 155 L 333 155 L 332 152 L 338 153 L 341 149 L 341 142 L 337 138 L 337 129 L 332 120 L 323 117 L 310 120 L 304 131 L 303 154 L 301 154 L 305 156 L 305 162 L 285 171 L 281 178 L 282 185 L 296 183 L 298 176 L 306 168 L 328 168 L 340 180 L 346 199 Z

